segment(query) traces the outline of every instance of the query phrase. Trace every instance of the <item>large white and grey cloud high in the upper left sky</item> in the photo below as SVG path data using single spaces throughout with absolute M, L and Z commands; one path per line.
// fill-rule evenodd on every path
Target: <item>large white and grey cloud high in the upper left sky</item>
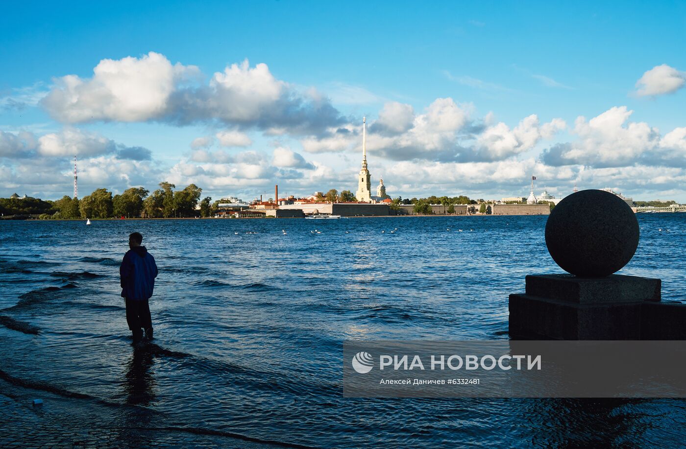
M 345 121 L 327 97 L 276 79 L 266 64 L 231 64 L 214 73 L 209 84 L 192 82 L 199 75 L 196 66 L 172 65 L 151 51 L 139 58 L 102 60 L 88 79 L 56 78 L 41 104 L 62 123 L 221 123 L 304 135 Z

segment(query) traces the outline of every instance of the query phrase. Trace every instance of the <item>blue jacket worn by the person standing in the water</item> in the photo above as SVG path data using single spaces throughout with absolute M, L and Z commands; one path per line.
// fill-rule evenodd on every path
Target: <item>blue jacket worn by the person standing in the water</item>
M 121 297 L 144 300 L 152 296 L 157 277 L 157 265 L 145 246 L 134 246 L 124 255 L 119 266 Z

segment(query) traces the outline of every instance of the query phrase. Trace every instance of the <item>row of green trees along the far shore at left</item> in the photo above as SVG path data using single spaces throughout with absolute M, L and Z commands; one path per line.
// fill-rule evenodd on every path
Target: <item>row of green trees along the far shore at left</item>
M 113 195 L 105 188 L 96 189 L 82 198 L 64 195 L 57 201 L 38 198 L 0 198 L 3 215 L 40 215 L 41 219 L 69 220 L 78 218 L 171 218 L 209 217 L 216 208 L 207 196 L 200 200 L 202 188 L 195 184 L 180 190 L 176 185 L 161 182 L 150 193 L 142 187 L 124 190 Z M 200 210 L 196 209 L 200 205 Z

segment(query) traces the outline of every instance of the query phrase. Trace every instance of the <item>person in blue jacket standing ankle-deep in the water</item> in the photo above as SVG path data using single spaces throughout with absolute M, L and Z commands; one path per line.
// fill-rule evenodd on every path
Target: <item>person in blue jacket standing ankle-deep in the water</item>
M 126 301 L 126 322 L 133 333 L 134 344 L 143 340 L 141 328 L 145 329 L 145 337 L 152 339 L 152 319 L 147 300 L 152 296 L 157 277 L 155 258 L 147 252 L 145 246 L 141 246 L 142 242 L 141 233 L 129 235 L 130 250 L 119 266 L 121 297 Z

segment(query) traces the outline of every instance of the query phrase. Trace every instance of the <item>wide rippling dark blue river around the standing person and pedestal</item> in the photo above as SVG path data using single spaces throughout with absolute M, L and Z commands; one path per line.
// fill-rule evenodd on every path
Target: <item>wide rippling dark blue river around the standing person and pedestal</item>
M 686 214 L 638 218 L 620 273 L 660 277 L 663 300 L 683 301 Z M 169 426 L 305 446 L 680 445 L 683 400 L 342 398 L 344 339 L 508 338 L 508 294 L 525 274 L 560 272 L 544 227 L 545 216 L 0 222 L 0 374 L 126 405 L 122 421 L 139 406 Z M 119 297 L 133 231 L 160 271 L 142 354 Z

